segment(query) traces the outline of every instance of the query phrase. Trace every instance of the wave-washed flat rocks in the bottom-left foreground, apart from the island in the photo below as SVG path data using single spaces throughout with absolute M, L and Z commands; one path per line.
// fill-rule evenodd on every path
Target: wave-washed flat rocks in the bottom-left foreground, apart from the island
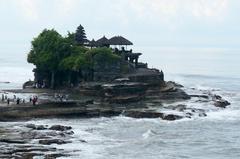
M 31 159 L 34 157 L 55 159 L 67 157 L 70 152 L 54 145 L 70 143 L 74 132 L 62 125 L 13 125 L 0 126 L 0 158 Z M 82 142 L 86 142 L 82 140 Z

